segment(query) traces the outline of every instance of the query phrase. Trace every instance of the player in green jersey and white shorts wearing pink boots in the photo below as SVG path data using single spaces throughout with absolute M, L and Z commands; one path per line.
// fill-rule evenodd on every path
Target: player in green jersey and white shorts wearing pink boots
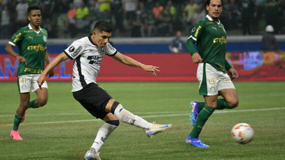
M 28 26 L 22 27 L 9 40 L 5 47 L 6 52 L 14 56 L 18 62 L 17 84 L 20 93 L 20 105 L 15 113 L 13 129 L 10 136 L 13 140 L 22 140 L 18 127 L 25 118 L 26 109 L 44 106 L 47 102 L 47 84 L 42 90 L 37 85 L 37 78 L 44 69 L 44 61 L 50 60 L 46 51 L 47 31 L 40 28 L 41 12 L 38 6 L 29 6 L 27 19 Z M 19 54 L 13 47 L 18 46 Z M 49 77 L 53 76 L 53 70 Z M 29 101 L 30 90 L 36 93 L 37 99 Z

